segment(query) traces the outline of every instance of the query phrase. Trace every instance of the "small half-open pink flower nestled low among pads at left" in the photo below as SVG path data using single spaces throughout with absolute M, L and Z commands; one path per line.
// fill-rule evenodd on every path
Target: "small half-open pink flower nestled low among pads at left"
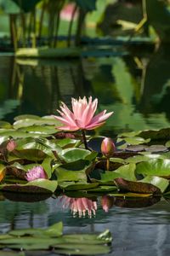
M 47 178 L 47 174 L 44 172 L 42 166 L 35 166 L 26 172 L 27 181 L 32 181 L 37 178 Z

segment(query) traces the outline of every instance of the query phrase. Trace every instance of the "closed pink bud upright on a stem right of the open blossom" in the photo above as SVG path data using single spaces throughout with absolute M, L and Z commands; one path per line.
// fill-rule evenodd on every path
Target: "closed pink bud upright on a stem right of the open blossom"
M 109 158 L 113 156 L 115 150 L 116 147 L 111 137 L 105 137 L 105 139 L 101 143 L 101 153 L 104 154 L 105 157 Z

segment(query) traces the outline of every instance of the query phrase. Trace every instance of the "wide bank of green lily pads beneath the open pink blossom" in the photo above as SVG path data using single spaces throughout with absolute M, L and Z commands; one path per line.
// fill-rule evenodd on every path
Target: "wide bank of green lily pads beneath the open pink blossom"
M 79 191 L 114 196 L 169 195 L 170 129 L 120 134 L 116 151 L 101 154 L 104 137 L 56 129 L 53 116 L 21 115 L 14 124 L 0 122 L 0 189 L 18 193 Z M 44 175 L 29 179 L 35 168 Z

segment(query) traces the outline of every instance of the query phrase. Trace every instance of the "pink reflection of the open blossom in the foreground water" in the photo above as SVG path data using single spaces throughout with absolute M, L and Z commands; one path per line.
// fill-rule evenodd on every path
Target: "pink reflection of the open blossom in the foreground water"
M 61 197 L 61 201 L 63 203 L 63 208 L 70 208 L 73 213 L 73 217 L 79 218 L 85 217 L 86 213 L 88 213 L 88 217 L 92 218 L 95 216 L 95 212 L 97 210 L 97 202 L 92 201 L 88 198 L 71 198 L 63 195 Z

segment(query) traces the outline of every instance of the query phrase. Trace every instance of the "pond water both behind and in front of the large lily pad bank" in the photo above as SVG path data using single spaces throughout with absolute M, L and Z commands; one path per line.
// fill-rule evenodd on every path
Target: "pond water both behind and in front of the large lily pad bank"
M 72 96 L 99 98 L 99 110 L 115 114 L 97 133 L 115 136 L 120 131 L 156 129 L 170 125 L 170 50 L 161 46 L 149 54 L 83 58 L 74 61 L 14 60 L 0 56 L 0 119 L 13 121 L 22 113 L 55 113 L 59 102 Z M 46 227 L 63 221 L 65 232 L 110 229 L 111 255 L 168 255 L 170 205 L 165 199 L 127 201 L 111 199 L 105 212 L 101 197 L 91 202 L 94 216 L 73 216 L 65 198 L 26 202 L 1 195 L 0 233 L 14 228 Z M 12 198 L 11 198 L 12 197 Z M 8 198 L 8 199 L 5 199 Z M 23 202 L 24 201 L 24 202 Z M 28 201 L 28 200 L 27 200 Z

